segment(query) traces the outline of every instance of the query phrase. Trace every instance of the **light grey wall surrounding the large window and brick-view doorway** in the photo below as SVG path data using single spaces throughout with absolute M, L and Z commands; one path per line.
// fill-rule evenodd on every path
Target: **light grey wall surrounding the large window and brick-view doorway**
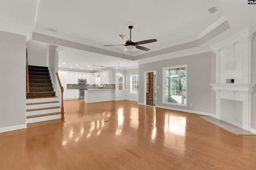
M 139 65 L 139 103 L 144 103 L 144 71 L 157 70 L 156 73 L 156 105 L 186 109 L 190 111 L 211 113 L 211 86 L 212 81 L 212 53 L 201 53 L 196 55 L 189 55 L 185 57 L 178 57 L 175 59 L 168 59 L 157 61 L 153 63 L 146 63 Z M 176 106 L 163 104 L 163 83 L 162 68 L 168 66 L 178 66 L 187 64 L 187 106 Z M 215 94 L 214 94 L 215 95 Z M 192 106 L 190 106 L 192 103 Z M 215 114 L 215 113 L 212 113 Z

